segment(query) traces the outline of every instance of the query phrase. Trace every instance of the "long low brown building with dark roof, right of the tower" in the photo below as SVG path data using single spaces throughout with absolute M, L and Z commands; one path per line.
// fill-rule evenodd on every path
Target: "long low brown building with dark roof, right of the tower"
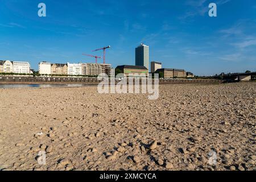
M 155 73 L 163 74 L 163 78 L 185 78 L 186 72 L 184 69 L 168 69 L 168 68 L 162 68 L 157 69 Z

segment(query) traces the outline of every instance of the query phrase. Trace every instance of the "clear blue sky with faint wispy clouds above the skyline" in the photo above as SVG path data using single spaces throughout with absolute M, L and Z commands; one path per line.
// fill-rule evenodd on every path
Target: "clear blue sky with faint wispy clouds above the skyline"
M 38 4 L 46 3 L 46 17 Z M 208 16 L 210 2 L 217 17 Z M 89 62 L 111 46 L 106 62 L 135 64 L 135 47 L 150 46 L 150 61 L 196 75 L 256 71 L 256 2 L 0 0 L 0 60 Z M 103 62 L 102 59 L 99 62 Z

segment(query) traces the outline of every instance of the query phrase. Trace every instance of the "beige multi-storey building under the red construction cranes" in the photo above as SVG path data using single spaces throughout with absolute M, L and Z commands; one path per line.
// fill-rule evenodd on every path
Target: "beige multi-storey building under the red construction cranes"
M 81 63 L 82 75 L 97 76 L 100 73 L 112 74 L 111 64 Z

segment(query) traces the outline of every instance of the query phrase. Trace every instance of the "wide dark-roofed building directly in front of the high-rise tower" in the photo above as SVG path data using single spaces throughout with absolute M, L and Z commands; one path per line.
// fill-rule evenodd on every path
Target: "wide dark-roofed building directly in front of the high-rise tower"
M 139 74 L 143 73 L 144 75 L 148 75 L 148 69 L 143 66 L 134 66 L 134 65 L 119 65 L 115 68 L 115 71 L 119 71 L 123 73 L 125 76 L 139 76 Z

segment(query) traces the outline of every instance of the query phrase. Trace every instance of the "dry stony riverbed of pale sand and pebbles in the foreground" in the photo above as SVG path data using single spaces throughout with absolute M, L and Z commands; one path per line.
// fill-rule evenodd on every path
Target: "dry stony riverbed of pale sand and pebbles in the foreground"
M 0 169 L 256 170 L 255 82 L 159 94 L 0 89 Z

